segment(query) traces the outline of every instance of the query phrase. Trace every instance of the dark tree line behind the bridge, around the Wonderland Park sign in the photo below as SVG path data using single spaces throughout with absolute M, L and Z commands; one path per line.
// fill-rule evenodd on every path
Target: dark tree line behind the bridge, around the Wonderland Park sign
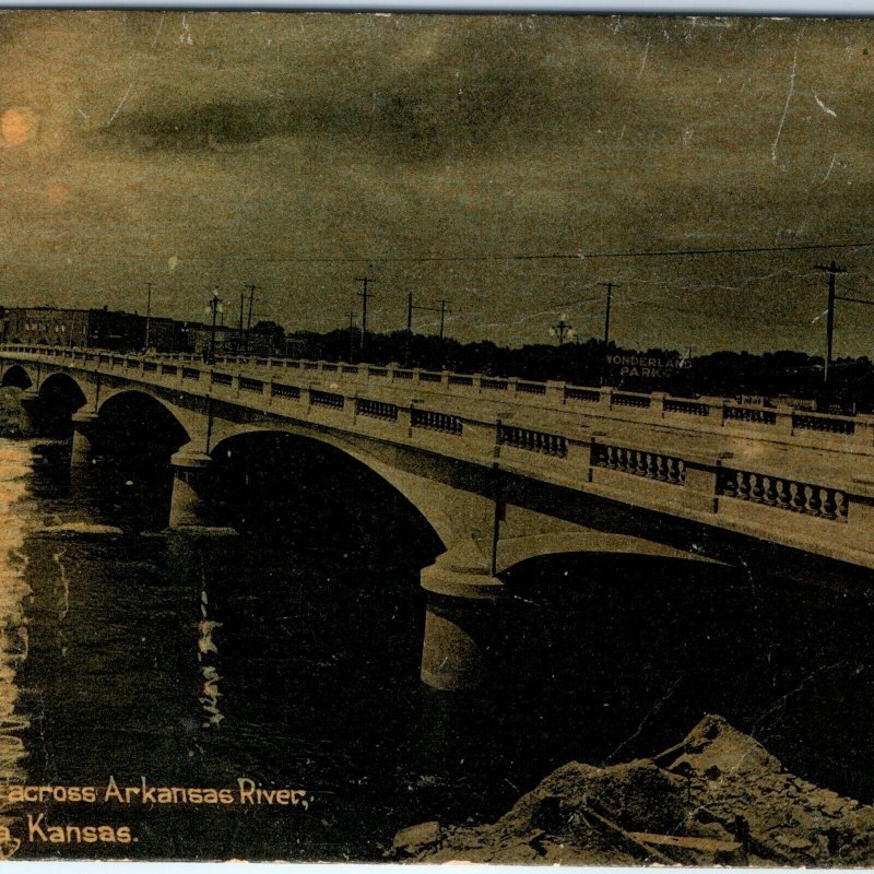
M 689 358 L 677 350 L 633 350 L 615 343 L 605 350 L 603 342 L 594 339 L 562 346 L 536 343 L 511 349 L 488 340 L 460 343 L 434 335 L 409 335 L 405 331 L 368 333 L 362 350 L 357 330 L 303 331 L 288 334 L 287 344 L 292 355 L 324 361 L 395 363 L 428 370 L 517 376 L 538 381 L 555 379 L 579 386 L 603 383 L 629 391 L 668 391 L 685 397 L 803 400 L 819 409 L 874 411 L 874 363 L 866 356 L 834 362 L 826 395 L 823 357 L 791 350 L 763 354 L 713 352 Z M 623 368 L 612 363 L 624 358 L 661 365 L 683 362 L 683 365 L 649 368 L 650 374 L 645 374 L 645 367 Z

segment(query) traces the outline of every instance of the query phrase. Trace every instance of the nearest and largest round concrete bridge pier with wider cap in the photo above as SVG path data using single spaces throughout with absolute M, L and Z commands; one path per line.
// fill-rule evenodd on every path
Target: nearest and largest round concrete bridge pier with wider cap
M 428 593 L 422 681 L 444 692 L 476 688 L 504 583 L 486 570 L 454 570 L 438 562 L 423 569 L 422 588 Z

